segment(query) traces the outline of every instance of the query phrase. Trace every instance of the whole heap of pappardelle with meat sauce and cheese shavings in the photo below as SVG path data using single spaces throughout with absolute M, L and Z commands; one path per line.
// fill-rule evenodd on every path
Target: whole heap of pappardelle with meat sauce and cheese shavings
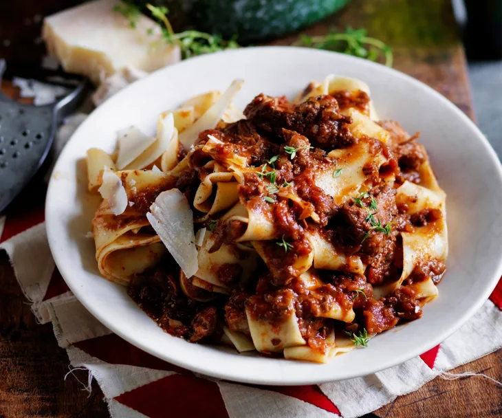
M 367 85 L 232 104 L 243 81 L 87 151 L 103 277 L 167 333 L 327 362 L 422 316 L 448 254 L 428 155 Z

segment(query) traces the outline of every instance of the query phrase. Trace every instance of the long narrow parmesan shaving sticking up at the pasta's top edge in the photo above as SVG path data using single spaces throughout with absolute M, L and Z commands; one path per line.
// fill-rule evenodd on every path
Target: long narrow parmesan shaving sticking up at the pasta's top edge
M 179 134 L 179 142 L 185 147 L 190 148 L 194 144 L 199 135 L 199 132 L 206 131 L 206 129 L 215 129 L 215 126 L 221 119 L 223 113 L 228 109 L 230 102 L 237 94 L 244 83 L 244 80 L 234 80 L 225 93 L 216 100 L 214 104 L 201 116 L 197 122 L 192 126 L 185 129 Z

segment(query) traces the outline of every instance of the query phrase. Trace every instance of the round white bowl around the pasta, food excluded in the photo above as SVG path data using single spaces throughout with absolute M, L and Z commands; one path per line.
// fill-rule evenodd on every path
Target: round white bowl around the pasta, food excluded
M 153 134 L 157 115 L 211 89 L 245 79 L 243 107 L 263 92 L 294 96 L 327 74 L 364 80 L 382 119 L 420 131 L 439 184 L 446 190 L 450 255 L 439 296 L 422 319 L 373 338 L 367 349 L 329 364 L 239 355 L 164 333 L 98 273 L 91 228 L 96 199 L 87 195 L 87 148 L 113 150 L 116 131 L 135 124 Z M 479 129 L 433 89 L 393 69 L 342 54 L 294 47 L 257 47 L 192 58 L 160 69 L 102 104 L 68 142 L 54 168 L 45 208 L 56 265 L 70 289 L 100 322 L 158 358 L 206 375 L 257 384 L 314 384 L 374 373 L 439 344 L 488 298 L 502 274 L 502 168 Z

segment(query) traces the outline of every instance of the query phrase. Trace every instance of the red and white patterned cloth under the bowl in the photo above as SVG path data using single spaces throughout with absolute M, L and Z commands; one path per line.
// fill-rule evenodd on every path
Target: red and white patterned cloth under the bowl
M 37 195 L 44 193 L 43 188 L 37 190 Z M 24 199 L 25 196 L 21 197 L 10 207 L 3 232 L 0 232 L 0 243 L 3 242 L 8 251 L 14 269 L 14 252 L 21 248 L 20 243 L 37 239 L 41 240 L 36 244 L 40 247 L 45 239 L 45 230 L 41 225 L 43 199 L 39 199 L 39 204 L 35 206 L 25 204 Z M 23 251 L 30 252 L 29 245 L 23 247 Z M 21 255 L 30 259 L 30 254 Z M 21 270 L 17 276 L 21 286 L 24 286 L 26 277 L 21 276 L 27 273 L 20 274 Z M 483 347 L 475 353 L 459 351 L 457 348 L 461 344 L 457 340 L 461 340 L 462 336 L 457 336 L 457 332 L 443 344 L 420 355 L 419 359 L 375 373 L 374 379 L 379 380 L 382 386 L 378 393 L 372 393 L 375 385 L 370 385 L 364 378 L 320 386 L 232 384 L 208 380 L 168 364 L 110 333 L 89 314 L 89 318 L 86 317 L 85 309 L 69 292 L 57 270 L 48 276 L 47 283 L 41 283 L 41 287 L 46 289 L 43 296 L 30 297 L 30 292 L 25 289 L 33 303 L 34 313 L 42 322 L 52 320 L 58 342 L 67 349 L 70 363 L 89 369 L 105 394 L 111 415 L 116 417 L 334 417 L 340 413 L 345 417 L 356 417 L 383 406 L 396 395 L 422 386 L 442 370 L 502 346 L 502 332 L 497 336 L 478 336 L 472 331 L 479 328 L 482 322 L 488 322 L 495 329 L 502 328 L 499 326 L 502 325 L 499 310 L 502 309 L 501 280 L 490 296 L 492 303 L 487 302 L 470 321 L 479 323 L 467 324 L 459 331 L 463 333 L 463 338 L 477 341 L 485 338 Z M 80 328 L 75 329 L 71 320 L 64 323 L 57 320 L 61 311 L 69 318 L 72 314 L 78 315 Z M 450 340 L 453 341 L 451 344 Z M 346 388 L 350 389 L 351 395 L 345 393 Z

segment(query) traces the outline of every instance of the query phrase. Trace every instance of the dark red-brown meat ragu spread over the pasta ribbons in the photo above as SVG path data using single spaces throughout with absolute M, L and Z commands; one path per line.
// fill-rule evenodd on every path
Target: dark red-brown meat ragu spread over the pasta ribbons
M 199 134 L 197 144 L 205 144 L 208 135 L 223 142 L 218 148 L 222 159 L 228 153 L 235 153 L 246 157 L 250 166 L 268 164 L 273 167 L 275 184 L 288 185 L 303 205 L 282 197 L 276 190 L 271 193 L 270 183 L 263 175 L 246 173 L 245 184 L 237 189 L 239 199 L 248 210 L 268 217 L 281 238 L 263 241 L 267 263 L 265 265 L 260 259 L 246 283 L 239 283 L 237 276 L 241 271 L 231 266 L 223 267 L 221 281 L 232 289 L 230 295 L 215 296 L 199 289 L 201 301 L 186 297 L 175 280 L 179 268 L 170 256 L 153 270 L 136 276 L 129 286 L 129 295 L 166 332 L 192 342 L 217 342 L 222 327 L 249 336 L 246 306 L 252 307 L 250 315 L 279 327 L 289 312 L 290 301 L 294 300 L 303 338 L 310 347 L 323 350 L 325 338 L 333 329 L 349 333 L 366 329 L 374 334 L 391 329 L 398 322 L 422 316 L 422 307 L 411 285 L 428 278 L 439 283 L 445 270 L 441 261 L 419 263 L 401 287 L 380 300 L 373 298 L 373 286 L 397 281 L 402 274 L 400 233 L 413 232 L 418 226 L 437 219 L 434 211 L 410 217 L 395 199 L 395 188 L 406 179 L 421 183 L 419 167 L 426 161 L 426 152 L 415 141 L 417 135 L 411 137 L 397 122 L 378 122 L 389 131 L 389 142 L 366 140 L 374 142 L 389 164 L 382 166 L 380 173 L 378 167 L 364 167 L 370 184 L 367 193 L 336 204 L 333 197 L 316 186 L 314 175 L 329 164 L 330 151 L 360 141 L 349 131 L 351 118 L 341 113 L 347 107 L 368 111 L 369 96 L 362 91 L 339 91 L 334 97 L 319 96 L 301 104 L 291 104 L 285 98 L 260 94 L 245 108 L 246 120 Z M 294 158 L 290 152 L 292 148 L 296 149 Z M 212 157 L 218 159 L 218 155 Z M 201 159 L 204 160 L 204 156 Z M 184 181 L 180 179 L 177 187 L 193 196 L 205 175 L 204 169 L 200 169 L 197 175 Z M 396 179 L 392 186 L 382 179 L 389 176 Z M 373 219 L 381 225 L 391 225 L 388 232 L 375 229 L 371 223 L 367 208 L 373 203 Z M 193 211 L 197 218 L 197 210 L 193 208 Z M 318 215 L 316 223 L 309 219 L 313 212 Z M 210 219 L 204 226 L 210 228 Z M 219 221 L 214 229 L 216 241 L 211 251 L 223 244 L 234 245 L 246 227 L 241 221 Z M 314 231 L 345 254 L 348 264 L 351 258 L 360 259 L 367 266 L 364 272 L 354 273 L 346 266 L 340 271 L 316 270 L 314 276 L 321 285 L 316 287 L 315 293 L 311 292 L 296 276 L 294 265 L 312 251 L 307 234 Z M 323 312 L 333 305 L 347 312 L 353 309 L 353 321 L 323 318 Z

